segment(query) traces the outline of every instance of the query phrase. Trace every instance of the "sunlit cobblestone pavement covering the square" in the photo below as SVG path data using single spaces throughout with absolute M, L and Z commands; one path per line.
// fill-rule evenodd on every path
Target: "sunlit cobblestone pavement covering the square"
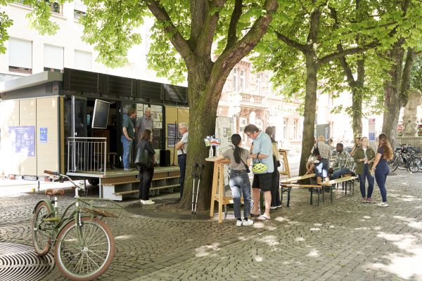
M 240 228 L 233 219 L 149 216 L 154 208 L 127 201 L 131 208 L 107 220 L 116 251 L 99 279 L 422 280 L 421 183 L 422 173 L 388 176 L 388 208 L 360 203 L 359 183 L 354 196 L 345 197 L 339 188 L 333 204 L 326 200 L 319 207 L 309 205 L 308 190 L 295 189 L 290 208 Z M 67 189 L 60 204 L 72 194 Z M 32 208 L 44 197 L 0 198 L 0 242 L 32 245 Z M 377 186 L 373 198 L 381 200 Z M 44 280 L 66 279 L 54 268 Z

